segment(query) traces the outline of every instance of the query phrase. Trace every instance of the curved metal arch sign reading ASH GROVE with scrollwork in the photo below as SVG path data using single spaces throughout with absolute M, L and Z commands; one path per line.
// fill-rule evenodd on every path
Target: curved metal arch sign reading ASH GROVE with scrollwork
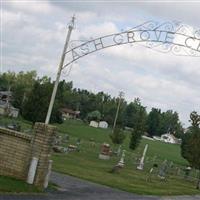
M 108 47 L 139 43 L 148 48 L 163 53 L 172 52 L 175 55 L 200 57 L 200 31 L 180 23 L 146 22 L 121 33 L 110 34 L 90 41 L 82 42 L 67 51 L 67 63 Z M 73 42 L 72 42 L 73 43 Z

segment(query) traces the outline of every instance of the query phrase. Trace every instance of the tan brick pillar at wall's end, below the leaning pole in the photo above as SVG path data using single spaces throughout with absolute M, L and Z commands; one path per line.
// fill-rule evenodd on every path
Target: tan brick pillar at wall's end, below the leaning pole
M 38 158 L 38 166 L 34 185 L 43 188 L 48 170 L 50 153 L 53 145 L 56 127 L 44 123 L 35 124 L 35 137 L 33 139 L 32 157 Z

